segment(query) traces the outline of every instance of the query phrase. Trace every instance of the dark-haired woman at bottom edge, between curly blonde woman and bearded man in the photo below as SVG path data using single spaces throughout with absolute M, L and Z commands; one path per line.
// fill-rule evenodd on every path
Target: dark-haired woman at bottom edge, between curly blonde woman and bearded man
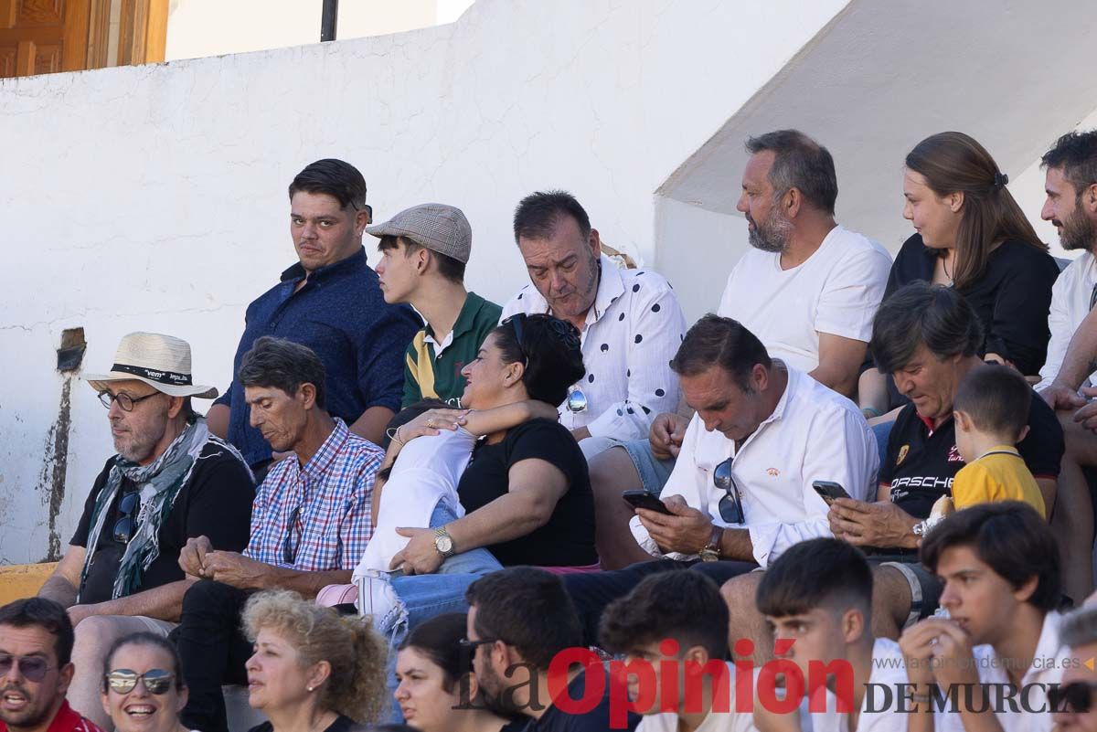
M 464 613 L 446 613 L 400 643 L 393 696 L 407 723 L 421 732 L 499 732 L 508 723 L 478 697 L 475 649 L 462 644 L 466 625 Z

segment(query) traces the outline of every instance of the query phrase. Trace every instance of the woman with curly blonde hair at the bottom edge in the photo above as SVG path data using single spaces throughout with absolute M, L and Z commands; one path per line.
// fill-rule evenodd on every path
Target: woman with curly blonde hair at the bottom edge
M 244 629 L 248 702 L 270 720 L 251 732 L 348 732 L 381 717 L 388 650 L 369 619 L 276 591 L 248 601 Z

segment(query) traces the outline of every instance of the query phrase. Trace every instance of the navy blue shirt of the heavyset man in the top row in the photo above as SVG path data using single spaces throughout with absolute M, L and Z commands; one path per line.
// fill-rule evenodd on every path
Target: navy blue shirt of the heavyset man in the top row
M 326 407 L 332 416 L 353 424 L 371 407 L 400 409 L 404 351 L 422 321 L 405 305 L 388 305 L 365 249 L 305 277 L 301 263 L 282 273 L 282 282 L 263 293 L 245 317 L 244 335 L 233 363 L 233 384 L 215 403 L 228 404 L 228 442 L 249 465 L 271 456 L 271 446 L 248 422 L 244 387 L 236 380 L 251 345 L 274 335 L 307 345 L 327 369 Z

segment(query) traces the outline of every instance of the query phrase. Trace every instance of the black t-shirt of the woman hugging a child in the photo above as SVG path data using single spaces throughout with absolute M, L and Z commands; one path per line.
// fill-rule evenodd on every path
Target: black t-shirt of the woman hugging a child
M 587 460 L 566 427 L 550 420 L 531 420 L 507 431 L 495 445 L 480 444 L 461 476 L 457 494 L 467 513 L 509 491 L 511 466 L 541 459 L 567 480 L 567 492 L 548 522 L 530 534 L 487 547 L 505 567 L 584 567 L 598 561 L 595 550 L 595 500 Z

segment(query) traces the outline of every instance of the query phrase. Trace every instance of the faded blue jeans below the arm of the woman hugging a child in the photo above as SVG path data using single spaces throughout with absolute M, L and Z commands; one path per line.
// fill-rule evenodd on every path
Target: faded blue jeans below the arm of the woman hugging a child
M 443 526 L 456 518 L 453 510 L 439 502 L 430 517 L 431 528 Z M 377 630 L 388 641 L 388 691 L 389 698 L 396 690 L 396 649 L 408 637 L 412 628 L 425 620 L 445 613 L 467 613 L 465 590 L 477 577 L 496 570 L 499 563 L 487 549 L 473 549 L 453 554 L 442 562 L 436 574 L 414 574 L 392 579 L 398 606 L 377 622 Z M 404 721 L 398 707 L 392 707 L 391 721 Z

